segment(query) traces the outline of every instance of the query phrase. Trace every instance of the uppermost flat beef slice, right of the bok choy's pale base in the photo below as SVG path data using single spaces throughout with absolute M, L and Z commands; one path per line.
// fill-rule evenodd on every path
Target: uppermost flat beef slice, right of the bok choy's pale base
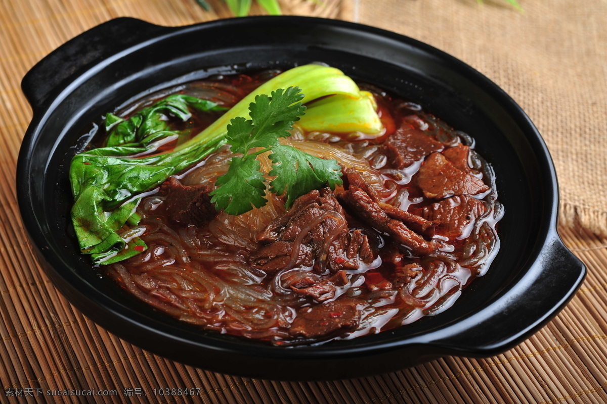
M 443 150 L 443 144 L 405 122 L 388 137 L 382 145 L 382 150 L 390 164 L 400 170 L 430 153 Z

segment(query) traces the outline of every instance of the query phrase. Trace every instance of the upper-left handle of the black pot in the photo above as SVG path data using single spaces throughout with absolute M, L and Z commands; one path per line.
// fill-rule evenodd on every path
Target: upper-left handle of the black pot
M 70 39 L 39 61 L 24 76 L 21 89 L 33 110 L 39 110 L 50 94 L 63 90 L 83 71 L 169 29 L 127 17 L 104 22 Z

